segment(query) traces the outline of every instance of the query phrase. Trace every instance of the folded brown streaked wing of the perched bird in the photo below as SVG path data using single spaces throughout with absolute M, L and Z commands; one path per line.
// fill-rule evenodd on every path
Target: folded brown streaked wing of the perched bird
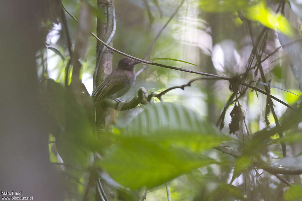
M 118 70 L 111 73 L 92 93 L 94 100 L 101 100 L 122 90 L 126 81 L 125 78 L 127 77 L 124 74 L 123 71 Z

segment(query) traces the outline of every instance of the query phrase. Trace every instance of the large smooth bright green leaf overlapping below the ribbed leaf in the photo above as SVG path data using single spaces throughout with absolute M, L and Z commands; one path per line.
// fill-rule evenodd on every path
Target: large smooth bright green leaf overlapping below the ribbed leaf
M 214 159 L 205 155 L 183 148 L 165 148 L 140 136 L 121 137 L 104 160 L 95 164 L 105 168 L 122 186 L 135 190 L 159 186 L 192 169 L 214 163 Z

